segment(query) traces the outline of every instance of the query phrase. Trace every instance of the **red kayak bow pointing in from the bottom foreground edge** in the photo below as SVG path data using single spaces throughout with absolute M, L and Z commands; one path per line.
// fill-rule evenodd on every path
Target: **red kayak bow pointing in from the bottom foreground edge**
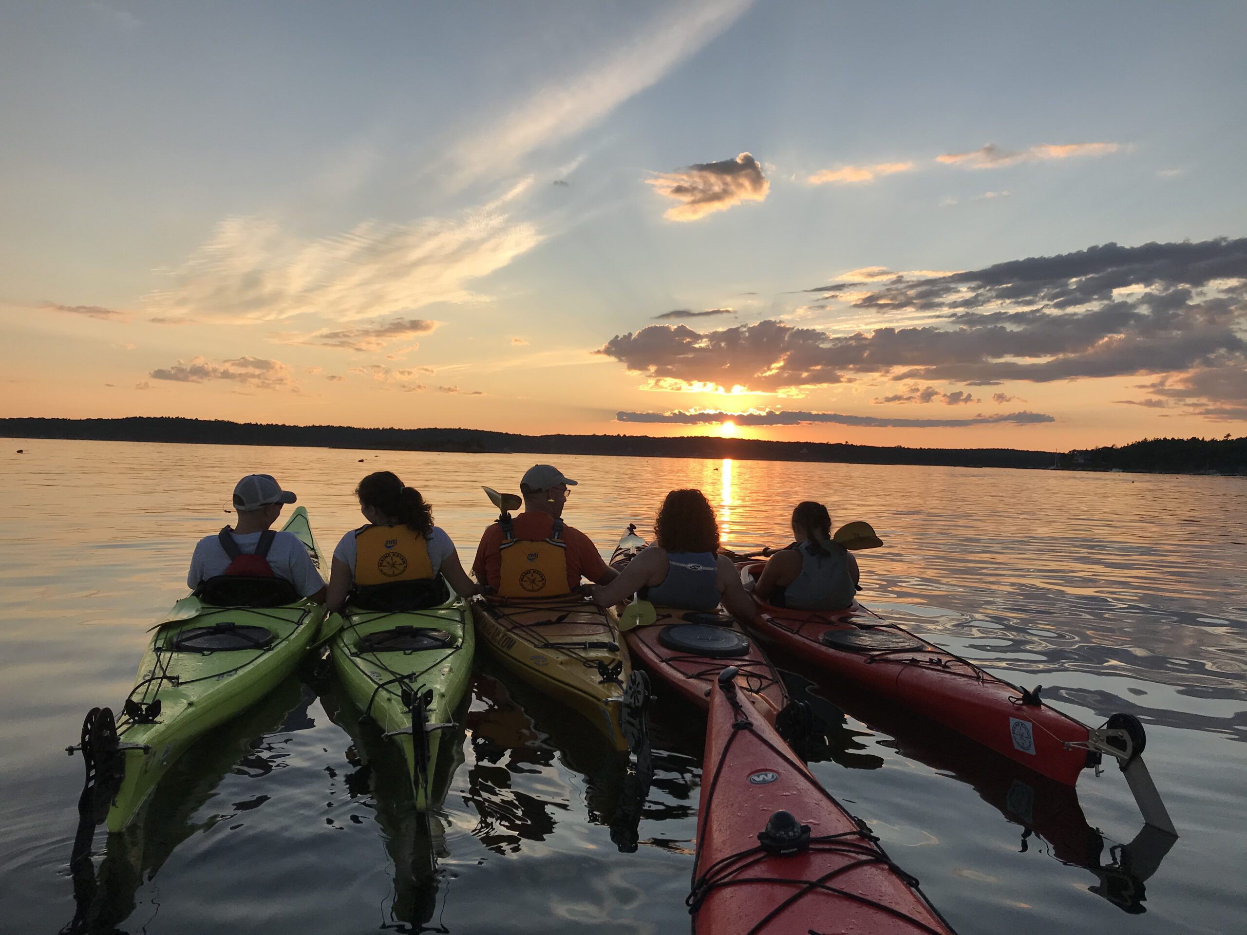
M 693 933 L 950 935 L 918 880 L 742 703 L 733 674 L 725 669 L 711 692 Z

